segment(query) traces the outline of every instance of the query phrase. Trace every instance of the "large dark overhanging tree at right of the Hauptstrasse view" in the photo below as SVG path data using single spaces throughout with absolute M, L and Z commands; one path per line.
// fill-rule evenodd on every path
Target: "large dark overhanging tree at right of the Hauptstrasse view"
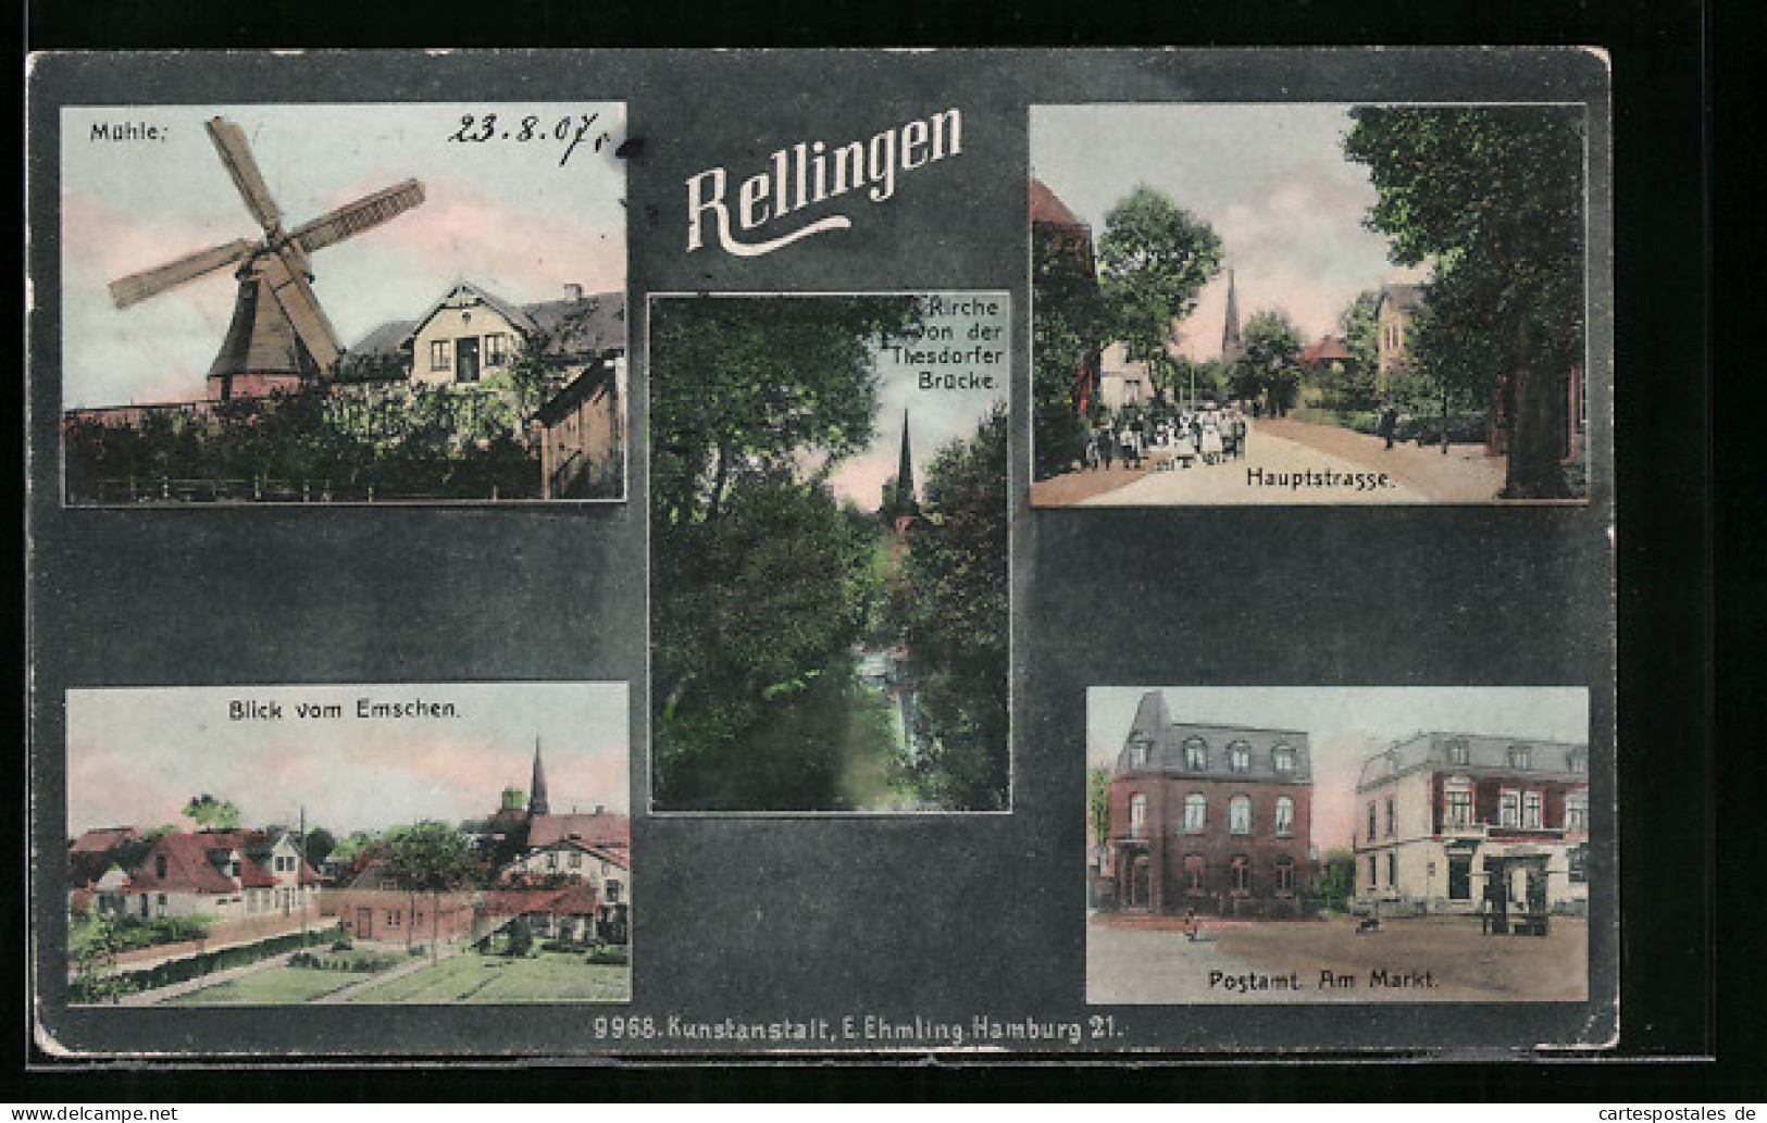
M 1558 498 L 1566 376 L 1583 353 L 1583 136 L 1551 108 L 1359 108 L 1345 155 L 1398 265 L 1433 265 L 1414 367 L 1493 403 L 1507 498 Z

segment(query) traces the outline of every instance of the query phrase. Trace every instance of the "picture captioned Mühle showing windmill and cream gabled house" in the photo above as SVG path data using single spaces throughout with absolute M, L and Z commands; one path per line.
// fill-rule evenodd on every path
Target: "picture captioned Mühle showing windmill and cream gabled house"
M 624 122 L 64 108 L 65 501 L 624 498 Z

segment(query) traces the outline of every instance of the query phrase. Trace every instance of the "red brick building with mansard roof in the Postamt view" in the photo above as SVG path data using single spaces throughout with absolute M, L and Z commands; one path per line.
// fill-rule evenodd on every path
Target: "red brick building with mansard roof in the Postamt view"
M 1315 883 L 1308 735 L 1175 722 L 1149 690 L 1117 756 L 1110 825 L 1104 906 L 1299 916 Z

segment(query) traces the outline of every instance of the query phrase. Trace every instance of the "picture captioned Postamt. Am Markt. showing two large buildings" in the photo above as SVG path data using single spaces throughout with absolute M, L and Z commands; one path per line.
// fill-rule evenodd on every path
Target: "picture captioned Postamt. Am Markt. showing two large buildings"
M 1094 687 L 1087 1001 L 1585 1001 L 1589 768 L 1581 689 Z

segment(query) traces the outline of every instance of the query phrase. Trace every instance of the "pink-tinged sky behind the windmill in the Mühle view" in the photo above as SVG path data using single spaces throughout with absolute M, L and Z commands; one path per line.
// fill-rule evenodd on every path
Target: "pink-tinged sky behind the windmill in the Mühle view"
M 451 143 L 468 113 L 497 111 L 512 134 L 534 115 L 555 127 L 599 115 L 613 143 Z M 117 277 L 233 238 L 260 238 L 203 122 L 239 124 L 293 228 L 406 178 L 428 200 L 313 256 L 313 288 L 348 346 L 387 320 L 421 314 L 456 279 L 528 304 L 626 288 L 620 104 L 127 106 L 62 109 L 62 346 L 69 408 L 203 397 L 233 316 L 231 270 L 129 309 Z M 164 141 L 95 141 L 97 122 L 157 125 Z M 475 125 L 477 127 L 477 125 Z

